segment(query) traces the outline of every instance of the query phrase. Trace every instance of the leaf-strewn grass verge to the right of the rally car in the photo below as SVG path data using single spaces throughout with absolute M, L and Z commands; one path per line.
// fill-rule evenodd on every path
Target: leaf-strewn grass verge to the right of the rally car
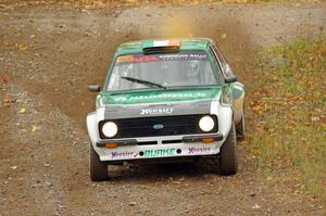
M 252 154 L 268 170 L 299 173 L 300 192 L 326 201 L 326 35 L 262 50 L 258 62 Z

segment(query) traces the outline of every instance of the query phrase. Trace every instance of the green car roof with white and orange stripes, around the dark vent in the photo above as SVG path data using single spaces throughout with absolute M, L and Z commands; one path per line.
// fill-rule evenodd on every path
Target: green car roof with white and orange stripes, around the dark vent
M 115 56 L 130 53 L 142 53 L 142 49 L 154 47 L 155 43 L 160 42 L 178 42 L 179 50 L 209 50 L 210 45 L 214 41 L 210 38 L 158 38 L 158 39 L 147 39 L 129 41 L 120 45 L 115 51 Z

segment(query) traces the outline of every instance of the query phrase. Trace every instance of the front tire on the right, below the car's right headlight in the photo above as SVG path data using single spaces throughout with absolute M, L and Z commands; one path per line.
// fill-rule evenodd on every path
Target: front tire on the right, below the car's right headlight
M 237 137 L 234 123 L 225 142 L 221 147 L 218 167 L 220 174 L 224 176 L 234 175 L 238 170 Z

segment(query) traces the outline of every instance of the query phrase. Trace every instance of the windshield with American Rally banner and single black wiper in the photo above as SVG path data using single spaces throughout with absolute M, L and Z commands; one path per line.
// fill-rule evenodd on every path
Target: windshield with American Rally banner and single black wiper
M 108 91 L 217 85 L 204 51 L 128 54 L 116 58 Z

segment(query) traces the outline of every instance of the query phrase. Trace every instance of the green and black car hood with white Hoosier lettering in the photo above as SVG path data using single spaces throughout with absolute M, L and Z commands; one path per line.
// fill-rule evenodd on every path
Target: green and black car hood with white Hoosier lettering
M 105 107 L 105 119 L 205 114 L 220 96 L 220 87 L 101 93 L 97 105 Z

